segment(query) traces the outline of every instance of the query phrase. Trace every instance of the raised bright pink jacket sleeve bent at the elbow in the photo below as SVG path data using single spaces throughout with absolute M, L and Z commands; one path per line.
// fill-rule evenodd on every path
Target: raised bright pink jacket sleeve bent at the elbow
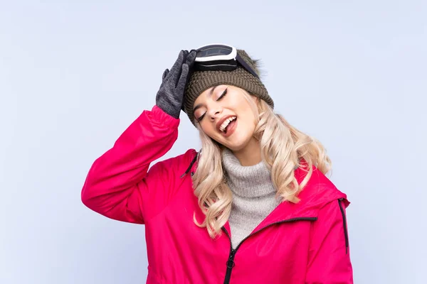
M 178 125 L 179 119 L 158 107 L 143 111 L 93 163 L 81 192 L 83 204 L 111 219 L 144 224 L 152 214 L 146 204 L 162 203 L 149 198 L 167 190 L 169 178 L 162 163 L 148 170 L 149 164 L 172 148 Z

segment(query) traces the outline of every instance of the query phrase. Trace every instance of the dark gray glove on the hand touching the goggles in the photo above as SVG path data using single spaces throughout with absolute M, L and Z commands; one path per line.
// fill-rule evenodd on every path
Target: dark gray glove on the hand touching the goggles
M 176 119 L 181 112 L 187 77 L 195 58 L 195 50 L 191 50 L 190 53 L 187 50 L 181 50 L 171 70 L 167 69 L 163 72 L 163 81 L 156 95 L 156 105 Z

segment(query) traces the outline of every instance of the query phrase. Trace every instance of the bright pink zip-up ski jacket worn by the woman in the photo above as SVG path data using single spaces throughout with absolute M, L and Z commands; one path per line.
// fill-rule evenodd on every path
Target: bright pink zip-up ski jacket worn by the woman
M 236 247 L 228 223 L 211 239 L 194 195 L 196 151 L 152 165 L 176 141 L 179 119 L 142 114 L 85 180 L 83 203 L 105 217 L 145 224 L 148 284 L 353 283 L 346 195 L 313 167 L 300 202 L 283 202 Z M 295 170 L 301 182 L 305 171 Z

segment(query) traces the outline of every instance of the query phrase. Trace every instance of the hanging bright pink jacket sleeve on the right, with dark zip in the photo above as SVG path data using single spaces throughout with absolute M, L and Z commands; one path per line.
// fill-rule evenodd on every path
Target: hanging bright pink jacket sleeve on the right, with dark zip
M 345 214 L 348 204 L 344 199 L 335 200 L 320 209 L 317 221 L 312 224 L 305 283 L 353 283 Z

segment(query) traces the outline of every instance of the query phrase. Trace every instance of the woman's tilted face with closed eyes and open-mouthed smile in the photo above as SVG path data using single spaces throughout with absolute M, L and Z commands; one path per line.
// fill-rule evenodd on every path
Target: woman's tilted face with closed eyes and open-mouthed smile
M 221 84 L 202 92 L 194 102 L 194 117 L 201 129 L 231 151 L 241 151 L 255 141 L 256 117 L 246 91 Z M 257 98 L 250 96 L 256 103 Z

